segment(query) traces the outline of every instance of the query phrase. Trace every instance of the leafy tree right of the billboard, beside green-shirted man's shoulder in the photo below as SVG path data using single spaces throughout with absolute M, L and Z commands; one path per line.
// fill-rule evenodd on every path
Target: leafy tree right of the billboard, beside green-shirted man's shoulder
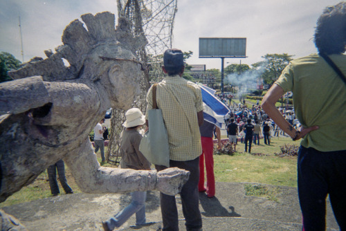
M 270 86 L 280 77 L 284 68 L 292 60 L 293 55 L 283 54 L 266 54 L 262 56 L 264 61 L 252 64 L 254 68 L 264 68 L 262 74 L 263 80 Z

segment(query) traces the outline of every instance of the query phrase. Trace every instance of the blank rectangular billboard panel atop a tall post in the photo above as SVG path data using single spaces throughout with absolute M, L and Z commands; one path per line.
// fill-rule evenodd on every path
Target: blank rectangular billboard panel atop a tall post
M 199 57 L 246 57 L 246 38 L 199 38 Z

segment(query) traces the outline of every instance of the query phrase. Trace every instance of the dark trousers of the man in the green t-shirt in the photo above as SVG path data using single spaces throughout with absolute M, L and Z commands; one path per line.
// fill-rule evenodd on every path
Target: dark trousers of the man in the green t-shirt
M 340 230 L 346 230 L 346 150 L 322 152 L 300 147 L 298 195 L 305 231 L 325 230 L 326 198 Z

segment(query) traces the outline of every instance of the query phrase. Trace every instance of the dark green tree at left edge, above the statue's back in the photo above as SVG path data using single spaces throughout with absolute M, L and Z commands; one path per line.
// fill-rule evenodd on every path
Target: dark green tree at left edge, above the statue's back
M 0 82 L 6 82 L 12 80 L 8 76 L 8 71 L 17 70 L 21 62 L 7 52 L 0 53 Z

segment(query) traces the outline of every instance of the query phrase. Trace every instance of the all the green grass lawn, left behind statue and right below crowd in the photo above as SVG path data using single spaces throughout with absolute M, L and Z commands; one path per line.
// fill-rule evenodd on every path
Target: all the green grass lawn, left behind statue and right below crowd
M 299 145 L 290 138 L 272 138 L 271 145 L 253 145 L 252 154 L 244 153 L 244 144 L 237 145 L 233 156 L 214 155 L 215 181 L 217 182 L 251 182 L 270 185 L 297 186 L 296 157 L 277 157 L 282 145 Z M 100 153 L 97 154 L 99 162 Z M 106 167 L 115 167 L 109 164 Z M 66 178 L 75 193 L 81 192 L 71 172 L 66 167 Z M 59 183 L 59 181 L 58 181 Z M 60 185 L 60 183 L 59 183 Z M 64 193 L 60 185 L 60 192 Z M 24 187 L 0 204 L 0 207 L 34 201 L 51 196 L 46 171 L 34 183 Z

